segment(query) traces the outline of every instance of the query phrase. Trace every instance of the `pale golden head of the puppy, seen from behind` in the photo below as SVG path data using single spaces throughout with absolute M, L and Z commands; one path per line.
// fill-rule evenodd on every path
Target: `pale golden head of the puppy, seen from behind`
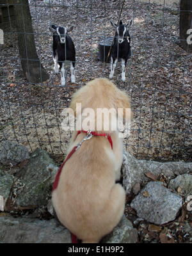
M 78 107 L 80 106 L 81 111 L 78 111 Z M 94 79 L 77 90 L 72 96 L 70 108 L 74 111 L 75 117 L 82 115 L 87 109 L 93 109 L 95 113 L 94 122 L 96 119 L 98 121 L 100 111 L 104 110 L 109 111 L 111 116 L 115 117 L 115 120 L 116 118 L 122 118 L 127 121 L 132 117 L 129 96 L 119 90 L 115 84 L 106 78 Z M 102 123 L 104 122 L 106 122 L 106 118 L 103 117 Z M 111 118 L 109 122 L 111 122 Z M 93 130 L 103 131 L 103 125 L 102 129 L 95 127 Z

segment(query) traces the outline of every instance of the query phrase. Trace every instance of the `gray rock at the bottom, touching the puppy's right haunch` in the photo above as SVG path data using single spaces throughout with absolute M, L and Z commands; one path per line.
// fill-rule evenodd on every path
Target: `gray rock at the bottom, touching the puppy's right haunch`
M 131 221 L 123 216 L 120 223 L 102 239 L 101 243 L 136 243 L 137 240 L 138 231 L 132 227 Z

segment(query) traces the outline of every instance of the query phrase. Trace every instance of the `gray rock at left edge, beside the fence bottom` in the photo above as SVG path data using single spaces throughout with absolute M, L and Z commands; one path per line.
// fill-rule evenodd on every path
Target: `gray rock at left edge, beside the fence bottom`
M 28 148 L 13 141 L 2 141 L 0 144 L 0 163 L 13 166 L 29 159 Z

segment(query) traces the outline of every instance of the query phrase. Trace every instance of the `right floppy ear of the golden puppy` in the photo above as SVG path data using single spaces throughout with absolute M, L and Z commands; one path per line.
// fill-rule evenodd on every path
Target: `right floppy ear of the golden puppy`
M 117 89 L 118 90 L 118 89 Z M 116 109 L 118 110 L 118 115 L 124 120 L 131 120 L 132 111 L 129 96 L 120 90 L 116 93 Z

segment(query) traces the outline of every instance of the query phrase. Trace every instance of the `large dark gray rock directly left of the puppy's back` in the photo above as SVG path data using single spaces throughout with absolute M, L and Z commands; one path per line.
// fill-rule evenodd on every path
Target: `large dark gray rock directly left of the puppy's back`
M 28 164 L 20 170 L 17 184 L 20 186 L 15 204 L 26 207 L 28 205 L 46 205 L 50 195 L 52 178 L 58 166 L 44 150 L 36 149 Z

